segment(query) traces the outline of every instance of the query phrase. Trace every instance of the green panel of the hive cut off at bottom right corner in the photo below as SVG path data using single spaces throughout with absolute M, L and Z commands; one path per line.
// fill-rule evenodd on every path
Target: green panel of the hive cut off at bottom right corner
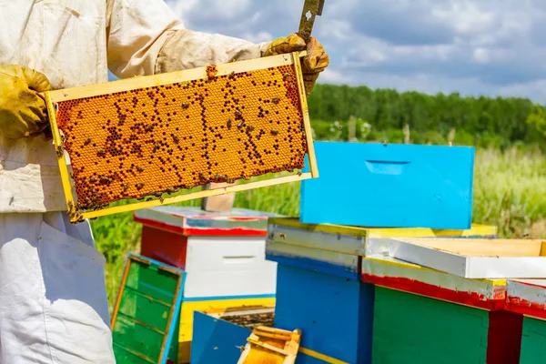
M 523 318 L 520 364 L 546 363 L 546 321 Z

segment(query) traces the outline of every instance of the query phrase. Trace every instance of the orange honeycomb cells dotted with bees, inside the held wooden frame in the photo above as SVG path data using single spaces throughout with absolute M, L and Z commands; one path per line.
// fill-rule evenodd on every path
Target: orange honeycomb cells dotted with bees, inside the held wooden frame
M 79 209 L 304 167 L 294 65 L 58 102 Z

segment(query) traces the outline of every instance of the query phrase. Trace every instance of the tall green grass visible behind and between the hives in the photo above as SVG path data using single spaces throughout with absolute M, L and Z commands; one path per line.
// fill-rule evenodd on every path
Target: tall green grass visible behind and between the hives
M 473 220 L 499 227 L 501 238 L 546 238 L 546 156 L 512 148 L 478 149 Z M 179 205 L 199 206 L 200 201 Z M 238 193 L 235 206 L 297 217 L 299 184 Z M 129 251 L 138 253 L 141 227 L 131 213 L 92 222 L 96 245 L 106 256 L 106 287 L 112 307 Z

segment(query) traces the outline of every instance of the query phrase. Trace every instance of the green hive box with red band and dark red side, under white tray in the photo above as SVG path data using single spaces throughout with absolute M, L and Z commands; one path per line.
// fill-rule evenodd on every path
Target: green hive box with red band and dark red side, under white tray
M 522 317 L 503 309 L 506 281 L 386 256 L 364 258 L 362 280 L 375 285 L 372 364 L 519 364 Z

